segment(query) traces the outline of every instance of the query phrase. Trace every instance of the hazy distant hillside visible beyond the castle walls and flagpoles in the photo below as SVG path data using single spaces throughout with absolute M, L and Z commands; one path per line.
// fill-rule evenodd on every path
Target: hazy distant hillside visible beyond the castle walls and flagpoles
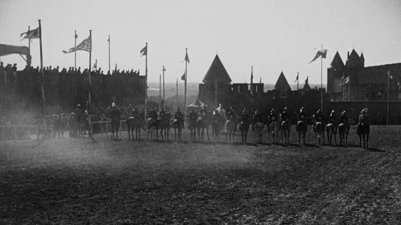
M 148 83 L 148 96 L 159 96 L 159 83 L 150 82 Z M 297 84 L 290 84 L 292 90 L 297 89 Z M 317 86 L 320 88 L 320 84 L 309 84 L 310 88 Z M 300 84 L 299 88 L 303 88 L 304 84 Z M 263 90 L 273 90 L 274 84 L 265 84 Z M 323 84 L 323 88 L 326 88 L 326 84 Z M 176 83 L 165 83 L 164 84 L 166 98 L 176 96 Z M 187 83 L 186 84 L 186 95 L 197 96 L 199 89 L 199 83 Z M 184 96 L 184 82 L 178 82 L 178 95 Z M 162 86 L 162 97 L 163 97 L 163 86 Z

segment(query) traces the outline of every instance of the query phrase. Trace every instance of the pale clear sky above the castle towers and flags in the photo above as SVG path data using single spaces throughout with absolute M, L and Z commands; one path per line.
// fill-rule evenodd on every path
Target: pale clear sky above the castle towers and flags
M 175 82 L 185 71 L 188 82 L 202 82 L 218 54 L 233 82 L 275 83 L 283 71 L 288 82 L 299 72 L 300 83 L 320 83 L 320 59 L 308 65 L 314 48 L 328 49 L 327 67 L 338 50 L 345 63 L 352 48 L 365 56 L 365 66 L 401 62 L 400 0 L 0 0 L 0 43 L 28 46 L 22 32 L 42 24 L 44 66 L 74 66 L 74 53 L 64 54 L 92 30 L 92 65 L 108 70 L 140 69 L 140 50 L 148 42 L 148 81 Z M 39 40 L 31 43 L 32 66 L 40 66 Z M 1 61 L 26 63 L 19 55 Z M 77 67 L 89 66 L 89 52 L 77 51 Z M 183 81 L 180 81 L 183 82 Z

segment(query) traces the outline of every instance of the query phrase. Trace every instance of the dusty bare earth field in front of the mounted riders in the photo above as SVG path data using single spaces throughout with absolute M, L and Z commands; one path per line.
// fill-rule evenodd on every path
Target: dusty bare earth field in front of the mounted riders
M 371 127 L 368 150 L 355 127 L 348 147 L 0 142 L 0 224 L 399 224 L 400 132 Z

